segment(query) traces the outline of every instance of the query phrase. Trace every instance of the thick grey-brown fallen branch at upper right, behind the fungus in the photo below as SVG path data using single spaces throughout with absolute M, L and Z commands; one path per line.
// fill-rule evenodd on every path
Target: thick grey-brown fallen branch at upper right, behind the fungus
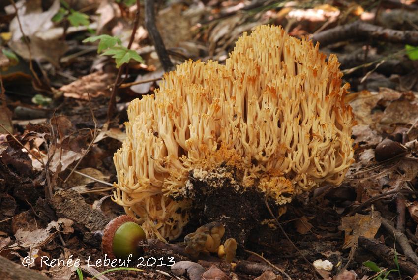
M 355 21 L 337 26 L 312 36 L 314 43 L 319 42 L 321 47 L 349 39 L 370 38 L 392 43 L 418 45 L 418 31 L 400 31 L 383 28 L 363 21 Z

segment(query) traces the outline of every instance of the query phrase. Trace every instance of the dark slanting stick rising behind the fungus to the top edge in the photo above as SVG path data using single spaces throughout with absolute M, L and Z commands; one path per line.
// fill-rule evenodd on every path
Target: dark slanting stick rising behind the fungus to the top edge
M 154 42 L 155 51 L 157 52 L 158 58 L 160 59 L 161 65 L 164 71 L 170 72 L 174 70 L 173 62 L 170 60 L 167 49 L 165 48 L 163 39 L 161 38 L 160 32 L 155 25 L 155 11 L 154 11 L 154 0 L 145 0 L 145 26 L 147 27 L 148 33 Z

